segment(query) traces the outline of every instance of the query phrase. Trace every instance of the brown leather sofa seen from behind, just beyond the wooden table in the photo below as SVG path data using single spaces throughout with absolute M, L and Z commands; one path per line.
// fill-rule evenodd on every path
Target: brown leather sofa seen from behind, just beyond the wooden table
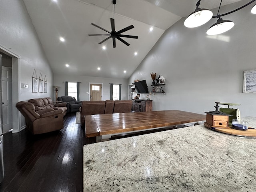
M 85 115 L 127 113 L 132 110 L 132 100 L 83 101 L 80 108 L 81 124 Z

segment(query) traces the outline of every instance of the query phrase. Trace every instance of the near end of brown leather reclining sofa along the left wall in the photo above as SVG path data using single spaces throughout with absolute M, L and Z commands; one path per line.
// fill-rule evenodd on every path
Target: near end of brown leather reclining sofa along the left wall
M 36 111 L 34 104 L 24 101 L 18 102 L 16 108 L 25 117 L 26 128 L 32 134 L 41 134 L 63 128 L 62 110 L 44 108 Z

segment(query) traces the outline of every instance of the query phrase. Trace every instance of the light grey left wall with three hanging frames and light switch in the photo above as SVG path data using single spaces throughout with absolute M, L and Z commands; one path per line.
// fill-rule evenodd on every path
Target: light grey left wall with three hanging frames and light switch
M 40 73 L 43 79 L 46 76 L 48 87 L 52 87 L 53 73 L 22 0 L 1 0 L 0 21 L 0 47 L 20 56 L 13 60 L 12 66 L 13 132 L 18 132 L 25 121 L 15 107 L 16 102 L 52 96 L 51 88 L 48 93 L 32 93 L 34 69 L 38 78 Z M 21 83 L 28 84 L 28 88 L 20 88 Z

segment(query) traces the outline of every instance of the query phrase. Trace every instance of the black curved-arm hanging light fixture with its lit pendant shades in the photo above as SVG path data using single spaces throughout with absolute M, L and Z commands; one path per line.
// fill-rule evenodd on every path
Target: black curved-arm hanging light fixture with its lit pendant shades
M 208 22 L 211 18 L 218 18 L 217 22 L 215 24 L 213 24 L 212 26 L 210 26 L 210 28 L 207 30 L 206 34 L 208 35 L 217 35 L 217 34 L 221 34 L 224 33 L 228 30 L 230 30 L 231 28 L 233 28 L 234 26 L 234 22 L 230 21 L 230 20 L 223 20 L 222 16 L 234 13 L 246 6 L 248 6 L 249 4 L 253 3 L 256 0 L 252 0 L 250 2 L 248 2 L 247 4 L 232 10 L 228 13 L 225 14 L 221 14 L 219 15 L 219 11 L 220 11 L 220 6 L 222 3 L 222 0 L 220 1 L 220 6 L 218 9 L 218 14 L 216 16 L 213 16 L 212 11 L 208 10 L 208 9 L 201 9 L 198 6 L 200 5 L 201 0 L 198 0 L 198 2 L 196 3 L 196 10 L 194 12 L 192 12 L 184 21 L 184 26 L 188 27 L 188 28 L 194 28 L 194 27 L 198 27 L 201 26 L 203 24 L 205 24 L 206 22 Z M 256 5 L 254 5 L 254 7 L 252 8 L 251 12 L 253 14 L 256 14 Z

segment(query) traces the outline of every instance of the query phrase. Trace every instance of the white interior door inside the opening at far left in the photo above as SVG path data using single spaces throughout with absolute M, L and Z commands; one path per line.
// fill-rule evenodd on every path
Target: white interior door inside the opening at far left
M 12 68 L 2 66 L 3 132 L 12 129 Z

